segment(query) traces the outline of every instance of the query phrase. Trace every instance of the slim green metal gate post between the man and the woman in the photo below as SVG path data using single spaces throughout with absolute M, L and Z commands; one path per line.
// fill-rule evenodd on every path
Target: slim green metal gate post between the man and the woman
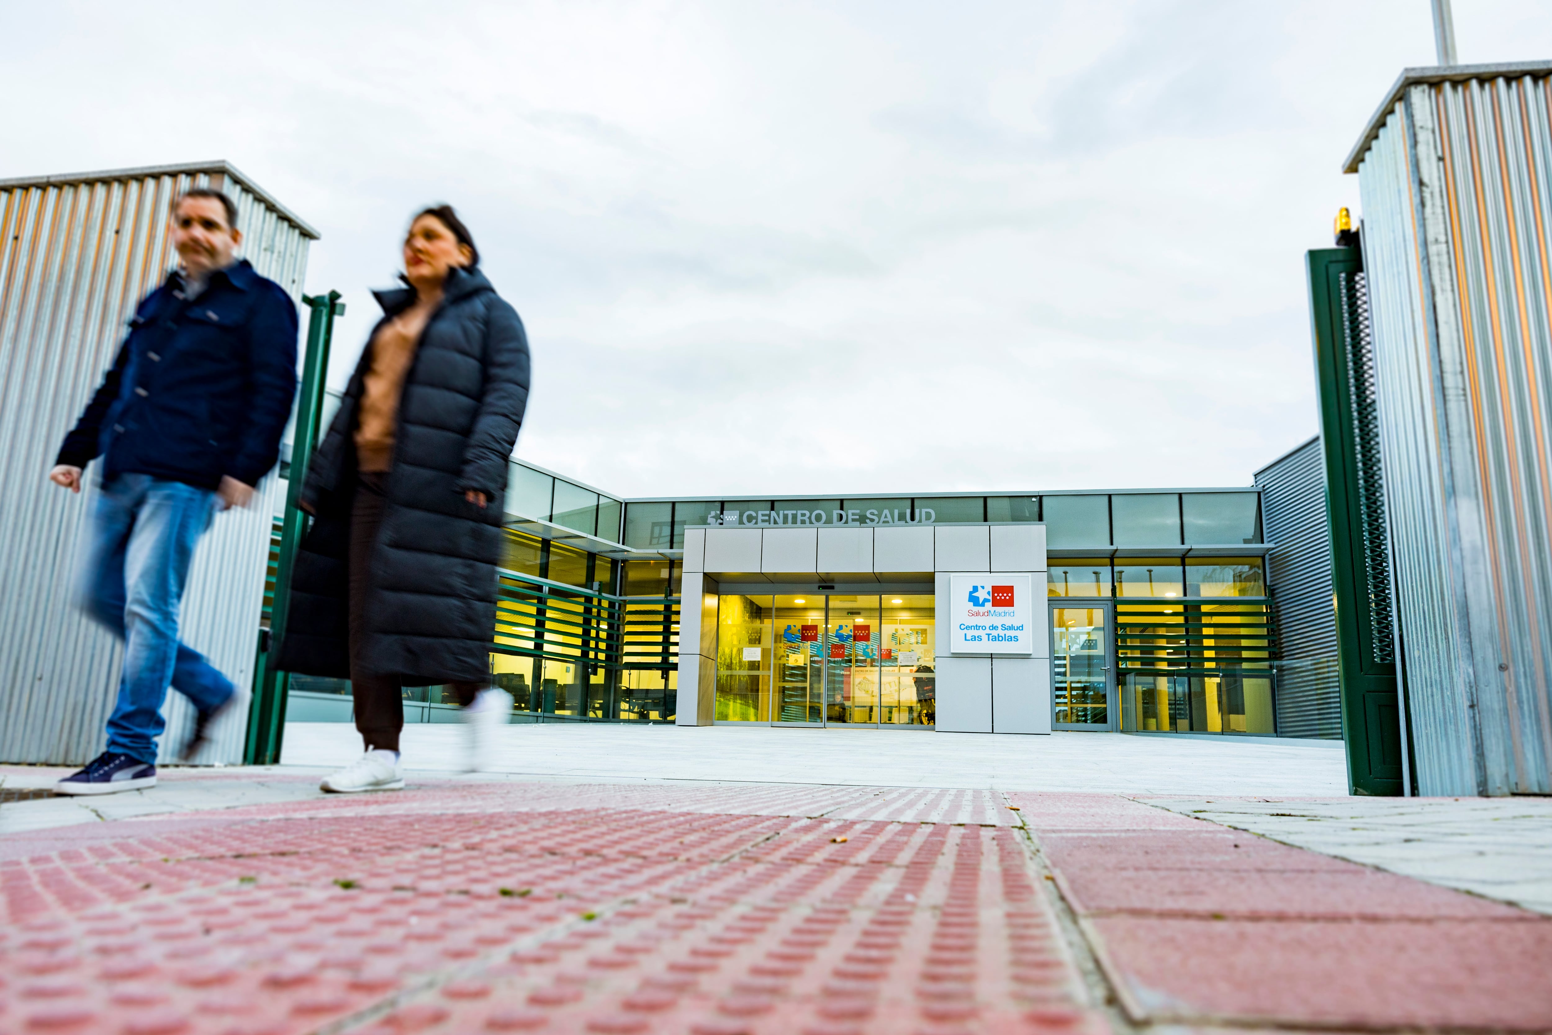
M 281 523 L 281 551 L 275 565 L 275 604 L 270 610 L 268 646 L 286 633 L 286 611 L 290 604 L 290 573 L 296 548 L 307 531 L 307 515 L 296 506 L 301 483 L 312 452 L 318 445 L 318 424 L 323 419 L 324 382 L 329 374 L 329 344 L 334 340 L 334 318 L 345 315 L 338 292 L 303 295 L 312 315 L 307 318 L 307 352 L 303 360 L 301 396 L 296 399 L 296 424 L 292 430 L 290 478 L 286 483 L 286 514 Z M 262 642 L 262 638 L 261 638 Z M 286 694 L 289 673 L 268 664 L 268 650 L 259 650 L 253 683 L 253 706 L 248 709 L 248 740 L 242 753 L 247 765 L 273 765 L 281 760 L 286 736 Z

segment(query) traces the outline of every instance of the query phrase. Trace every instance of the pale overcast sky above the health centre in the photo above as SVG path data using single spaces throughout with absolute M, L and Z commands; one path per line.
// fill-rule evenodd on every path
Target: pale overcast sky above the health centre
M 1456 0 L 1462 62 L 1552 57 Z M 349 313 L 459 208 L 518 455 L 622 495 L 1246 484 L 1315 433 L 1302 254 L 1428 0 L 20 3 L 0 177 L 227 158 Z

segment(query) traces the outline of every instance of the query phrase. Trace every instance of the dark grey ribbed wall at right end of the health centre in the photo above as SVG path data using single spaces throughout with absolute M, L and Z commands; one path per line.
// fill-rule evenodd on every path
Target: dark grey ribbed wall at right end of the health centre
M 1266 540 L 1274 543 L 1266 580 L 1277 632 L 1277 736 L 1341 740 L 1321 438 L 1256 472 L 1256 487 Z

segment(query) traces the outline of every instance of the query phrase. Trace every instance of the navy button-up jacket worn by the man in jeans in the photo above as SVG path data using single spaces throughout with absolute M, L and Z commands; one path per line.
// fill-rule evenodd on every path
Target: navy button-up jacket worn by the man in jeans
M 247 261 L 194 299 L 174 273 L 151 292 L 59 464 L 104 458 L 104 481 L 143 473 L 216 489 L 275 466 L 296 393 L 296 306 Z

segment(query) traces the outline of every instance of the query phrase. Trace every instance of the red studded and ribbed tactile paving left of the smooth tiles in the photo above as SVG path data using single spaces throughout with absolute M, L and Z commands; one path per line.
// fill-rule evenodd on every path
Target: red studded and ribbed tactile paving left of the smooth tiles
M 1107 1027 L 1023 832 L 922 821 L 984 815 L 981 791 L 512 808 L 549 790 L 124 822 L 0 864 L 0 1033 Z M 804 804 L 782 793 L 757 808 Z M 807 815 L 821 804 L 858 818 Z

